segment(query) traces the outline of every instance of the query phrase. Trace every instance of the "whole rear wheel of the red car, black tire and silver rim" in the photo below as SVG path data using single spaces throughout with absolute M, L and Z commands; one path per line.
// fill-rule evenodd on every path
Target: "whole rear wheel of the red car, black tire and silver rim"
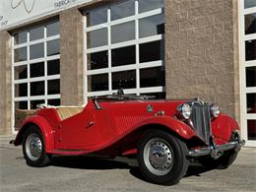
M 45 152 L 44 140 L 36 126 L 30 126 L 23 138 L 23 154 L 30 166 L 45 166 L 50 162 L 50 155 Z

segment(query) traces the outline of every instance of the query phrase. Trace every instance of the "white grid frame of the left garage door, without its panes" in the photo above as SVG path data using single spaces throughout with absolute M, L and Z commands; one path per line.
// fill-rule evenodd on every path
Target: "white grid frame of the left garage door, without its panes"
M 15 127 L 15 110 L 16 110 L 15 103 L 16 102 L 27 101 L 28 102 L 27 109 L 30 110 L 30 109 L 32 109 L 32 107 L 31 107 L 32 100 L 44 100 L 44 103 L 47 104 L 48 99 L 60 99 L 60 97 L 61 97 L 60 94 L 47 95 L 47 82 L 49 80 L 60 80 L 60 74 L 47 75 L 47 61 L 60 59 L 60 54 L 47 56 L 47 42 L 50 40 L 55 40 L 55 39 L 59 40 L 59 38 L 60 38 L 59 33 L 47 37 L 47 33 L 46 33 L 47 25 L 55 23 L 55 22 L 59 22 L 59 21 L 52 21 L 52 22 L 45 23 L 40 26 L 36 26 L 35 28 L 43 27 L 43 37 L 36 39 L 36 40 L 32 40 L 32 41 L 30 40 L 30 31 L 31 31 L 31 29 L 34 29 L 34 27 L 28 28 L 24 31 L 20 31 L 20 32 L 27 32 L 27 41 L 20 43 L 20 44 L 15 44 L 15 40 L 14 40 L 15 34 L 17 34 L 19 32 L 13 32 L 13 34 L 12 34 L 12 42 L 11 42 L 12 43 L 12 132 L 14 134 L 17 133 L 17 128 Z M 43 44 L 43 50 L 44 50 L 43 56 L 40 58 L 31 59 L 30 58 L 30 46 L 34 45 L 34 44 L 38 44 L 38 43 Z M 27 48 L 27 60 L 15 62 L 15 60 L 14 60 L 15 49 L 21 48 L 21 47 Z M 31 78 L 31 64 L 40 63 L 40 62 L 42 62 L 44 64 L 43 76 Z M 15 67 L 18 67 L 18 66 L 27 66 L 27 78 L 26 79 L 15 79 Z M 32 82 L 42 82 L 42 81 L 44 82 L 44 95 L 31 96 L 31 83 Z M 27 84 L 28 85 L 27 96 L 15 96 L 15 86 L 19 85 L 19 84 Z

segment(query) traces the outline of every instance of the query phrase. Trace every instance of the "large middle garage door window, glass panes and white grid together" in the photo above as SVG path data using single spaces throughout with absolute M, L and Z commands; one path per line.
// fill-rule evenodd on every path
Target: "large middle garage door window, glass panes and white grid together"
M 128 0 L 85 13 L 85 96 L 121 88 L 165 96 L 163 7 L 164 0 Z

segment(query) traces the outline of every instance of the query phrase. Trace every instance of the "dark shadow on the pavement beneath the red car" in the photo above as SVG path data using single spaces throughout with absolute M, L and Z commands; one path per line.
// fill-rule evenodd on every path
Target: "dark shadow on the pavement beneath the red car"
M 78 168 L 78 169 L 128 169 L 130 174 L 134 177 L 148 182 L 145 180 L 141 171 L 139 170 L 136 160 L 129 159 L 99 159 L 95 157 L 54 157 L 51 166 L 59 166 L 66 168 Z M 188 167 L 187 173 L 184 177 L 201 176 L 202 173 L 208 172 L 210 169 L 206 169 L 200 164 L 191 164 Z

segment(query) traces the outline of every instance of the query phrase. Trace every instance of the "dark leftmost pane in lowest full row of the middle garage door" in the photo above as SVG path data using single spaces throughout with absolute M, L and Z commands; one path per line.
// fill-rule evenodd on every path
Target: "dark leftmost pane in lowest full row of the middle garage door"
M 108 90 L 108 74 L 88 76 L 88 91 L 107 91 Z

